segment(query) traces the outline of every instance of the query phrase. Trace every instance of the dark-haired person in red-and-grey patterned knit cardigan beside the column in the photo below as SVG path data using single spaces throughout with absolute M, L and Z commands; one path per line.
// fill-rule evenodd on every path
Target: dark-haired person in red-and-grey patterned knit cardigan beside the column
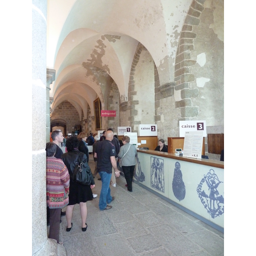
M 46 198 L 50 213 L 49 238 L 59 243 L 61 208 L 69 203 L 70 175 L 61 159 L 54 157 L 57 146 L 46 144 Z

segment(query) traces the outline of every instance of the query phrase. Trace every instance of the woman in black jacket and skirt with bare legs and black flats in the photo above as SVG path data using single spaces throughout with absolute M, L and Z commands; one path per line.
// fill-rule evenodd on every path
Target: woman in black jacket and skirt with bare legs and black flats
M 78 156 L 80 151 L 78 150 L 79 147 L 79 140 L 76 137 L 70 137 L 67 139 L 66 142 L 67 152 L 62 155 L 62 161 L 67 166 L 68 172 L 70 174 L 70 193 L 69 193 L 69 204 L 66 208 L 66 218 L 67 218 L 67 228 L 66 231 L 69 232 L 73 226 L 71 223 L 73 209 L 76 204 L 80 206 L 80 213 L 81 213 L 81 221 L 82 221 L 82 231 L 86 231 L 87 224 L 87 201 L 93 200 L 93 193 L 92 189 L 95 187 L 95 183 L 93 180 L 93 175 L 91 175 L 91 184 L 90 185 L 82 185 L 73 181 L 73 171 L 76 166 L 76 162 L 78 160 Z M 87 156 L 83 154 L 83 163 L 85 166 L 88 165 L 87 163 Z

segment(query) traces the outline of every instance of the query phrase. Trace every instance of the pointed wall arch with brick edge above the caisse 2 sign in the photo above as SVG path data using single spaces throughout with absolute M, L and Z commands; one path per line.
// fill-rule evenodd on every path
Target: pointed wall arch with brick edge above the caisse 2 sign
M 150 53 L 139 43 L 132 61 L 128 86 L 128 121 L 134 132 L 138 132 L 141 123 L 154 123 L 154 67 Z

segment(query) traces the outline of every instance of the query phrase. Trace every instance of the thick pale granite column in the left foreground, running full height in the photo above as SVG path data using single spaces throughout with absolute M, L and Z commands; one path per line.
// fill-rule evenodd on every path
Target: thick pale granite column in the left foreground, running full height
M 57 255 L 46 218 L 47 0 L 32 0 L 32 255 Z M 58 250 L 57 250 L 58 247 Z M 61 246 L 60 250 L 65 250 Z M 59 251 L 58 251 L 59 255 Z M 64 255 L 64 254 L 62 254 Z

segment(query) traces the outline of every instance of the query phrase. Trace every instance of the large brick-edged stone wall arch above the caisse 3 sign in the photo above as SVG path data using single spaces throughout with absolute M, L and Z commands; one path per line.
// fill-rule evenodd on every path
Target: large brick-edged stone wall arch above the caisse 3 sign
M 192 1 L 175 58 L 175 108 L 180 120 L 202 119 L 224 125 L 224 41 L 219 1 Z M 216 29 L 217 27 L 217 29 Z M 207 36 L 204 36 L 207 35 Z M 216 75 L 218 74 L 218 75 Z M 221 97 L 219 97 L 221 96 Z

